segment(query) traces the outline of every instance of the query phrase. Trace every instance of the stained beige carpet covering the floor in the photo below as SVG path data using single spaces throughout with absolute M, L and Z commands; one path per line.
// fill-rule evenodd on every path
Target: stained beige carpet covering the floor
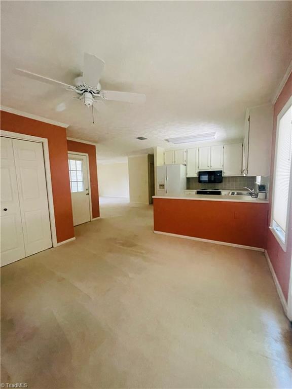
M 77 240 L 2 269 L 2 382 L 288 388 L 291 329 L 264 255 L 155 235 L 102 202 Z

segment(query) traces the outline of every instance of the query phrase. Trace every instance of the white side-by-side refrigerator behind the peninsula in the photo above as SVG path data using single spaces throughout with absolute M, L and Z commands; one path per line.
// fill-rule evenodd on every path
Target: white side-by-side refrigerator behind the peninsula
M 157 166 L 156 196 L 182 196 L 186 188 L 186 165 Z

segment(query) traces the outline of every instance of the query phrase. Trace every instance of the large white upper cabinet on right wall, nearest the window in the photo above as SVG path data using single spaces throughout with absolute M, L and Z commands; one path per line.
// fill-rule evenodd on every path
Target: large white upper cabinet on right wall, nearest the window
M 272 105 L 246 110 L 243 174 L 264 177 L 270 175 L 272 131 Z

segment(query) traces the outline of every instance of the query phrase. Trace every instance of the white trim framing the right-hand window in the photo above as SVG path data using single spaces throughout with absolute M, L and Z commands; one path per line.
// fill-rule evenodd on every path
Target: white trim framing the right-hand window
M 277 149 L 278 149 L 278 137 L 279 137 L 279 123 L 284 114 L 287 112 L 287 110 L 292 106 L 292 96 L 289 98 L 289 100 L 286 102 L 286 104 L 283 106 L 281 111 L 279 112 L 277 116 L 277 130 L 276 130 L 276 144 L 275 144 L 275 155 L 274 155 L 274 171 L 273 171 L 273 190 L 272 190 L 272 209 L 271 209 L 271 219 L 270 219 L 270 229 L 272 231 L 272 234 L 278 241 L 279 245 L 281 246 L 283 251 L 287 250 L 287 240 L 288 240 L 288 231 L 289 231 L 289 215 L 287 215 L 286 220 L 286 232 L 285 232 L 285 239 L 284 241 L 280 238 L 280 235 L 277 231 L 277 229 L 273 225 L 273 213 L 274 213 L 274 192 L 275 192 L 275 165 L 276 165 L 276 158 L 277 158 Z M 292 165 L 291 165 L 292 166 Z M 289 192 L 288 192 L 288 212 L 290 210 L 291 205 L 291 192 L 292 192 L 292 167 L 290 168 L 290 181 L 289 181 Z

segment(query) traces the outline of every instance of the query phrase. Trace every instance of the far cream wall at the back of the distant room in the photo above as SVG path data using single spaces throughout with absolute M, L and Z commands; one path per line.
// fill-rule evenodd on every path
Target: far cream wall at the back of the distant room
M 128 163 L 98 164 L 99 196 L 129 198 Z

